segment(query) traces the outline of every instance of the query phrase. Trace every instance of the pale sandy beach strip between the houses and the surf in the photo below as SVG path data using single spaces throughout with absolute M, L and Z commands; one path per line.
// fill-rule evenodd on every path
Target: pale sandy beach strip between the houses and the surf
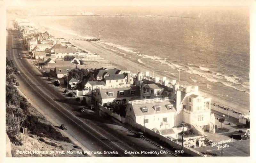
M 50 31 L 51 35 L 53 35 L 55 37 L 64 38 L 67 41 L 69 41 L 70 43 L 72 43 L 74 46 L 76 46 L 80 49 L 83 49 L 85 51 L 92 52 L 92 53 L 97 53 L 101 57 L 106 58 L 106 60 L 115 63 L 117 65 L 116 68 L 125 69 L 127 71 L 132 71 L 133 73 L 137 73 L 138 71 L 142 71 L 142 72 L 148 71 L 150 74 L 153 74 L 153 71 L 150 68 L 144 66 L 144 64 L 141 64 L 140 62 L 136 63 L 136 61 L 129 60 L 128 58 L 125 58 L 124 55 L 121 53 L 118 53 L 118 52 L 115 52 L 115 51 L 112 51 L 109 49 L 105 49 L 104 47 L 101 47 L 101 46 L 97 45 L 96 43 L 73 39 L 74 37 L 80 38 L 79 35 L 77 35 L 77 36 L 70 35 L 70 34 L 66 34 L 60 30 L 46 28 L 46 27 L 43 27 L 40 24 L 40 22 L 36 22 L 36 24 L 37 24 L 39 31 L 40 30 L 42 30 L 43 32 Z M 129 69 L 127 69 L 127 67 L 129 67 Z M 176 79 L 176 77 L 173 77 L 172 75 L 164 74 L 164 72 L 154 71 L 154 74 L 155 74 L 154 76 L 158 76 L 158 77 L 166 76 L 167 79 Z M 193 85 L 200 85 L 200 84 L 193 84 Z M 201 86 L 199 86 L 199 90 L 211 94 L 211 90 L 202 89 Z M 241 113 L 249 114 L 250 108 L 246 108 L 241 103 L 234 103 L 234 101 L 232 101 L 231 99 L 228 100 L 224 97 L 221 98 L 221 97 L 218 97 L 217 95 L 213 95 L 213 94 L 211 94 L 211 98 L 212 98 L 211 103 L 220 104 L 220 106 L 233 108 L 234 110 L 237 110 Z

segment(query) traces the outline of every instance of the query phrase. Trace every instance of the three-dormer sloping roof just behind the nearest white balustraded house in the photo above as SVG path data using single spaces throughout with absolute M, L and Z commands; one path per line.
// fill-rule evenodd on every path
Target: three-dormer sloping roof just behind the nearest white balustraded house
M 135 90 L 135 94 L 131 95 L 131 90 Z M 118 98 L 118 97 L 139 97 L 140 96 L 140 87 L 127 87 L 127 88 L 116 88 L 116 89 L 97 89 L 100 91 L 102 99 L 108 98 Z M 124 91 L 124 95 L 121 96 L 119 91 Z M 113 92 L 113 96 L 108 96 L 108 92 Z

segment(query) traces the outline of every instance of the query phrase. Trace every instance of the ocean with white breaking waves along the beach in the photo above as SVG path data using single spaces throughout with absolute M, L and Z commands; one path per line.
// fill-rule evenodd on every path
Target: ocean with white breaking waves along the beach
M 248 7 L 81 8 L 93 10 L 128 16 L 40 16 L 39 23 L 74 38 L 99 37 L 94 44 L 169 79 L 179 80 L 180 71 L 180 81 L 198 85 L 216 103 L 232 102 L 235 109 L 249 112 Z

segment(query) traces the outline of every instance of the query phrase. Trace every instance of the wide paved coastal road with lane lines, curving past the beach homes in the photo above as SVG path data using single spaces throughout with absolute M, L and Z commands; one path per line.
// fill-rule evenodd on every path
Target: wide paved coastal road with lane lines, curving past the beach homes
M 77 105 L 70 103 L 68 97 L 63 96 L 63 89 L 55 87 L 32 65 L 25 54 L 17 46 L 21 44 L 15 39 L 17 32 L 8 31 L 7 57 L 14 61 L 21 72 L 17 76 L 20 90 L 56 124 L 65 123 L 66 132 L 84 145 L 89 151 L 115 151 L 116 154 L 95 154 L 95 156 L 173 156 L 172 154 L 145 154 L 141 151 L 156 151 L 162 149 L 146 140 L 134 137 L 134 134 L 118 123 L 101 118 L 92 111 L 78 112 Z M 21 53 L 22 59 L 18 53 Z M 125 151 L 133 151 L 125 154 Z M 137 153 L 138 152 L 138 153 Z

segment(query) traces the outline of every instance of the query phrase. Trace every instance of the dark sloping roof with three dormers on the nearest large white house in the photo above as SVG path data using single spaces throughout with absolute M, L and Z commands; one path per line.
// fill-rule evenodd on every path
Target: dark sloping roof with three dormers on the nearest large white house
M 132 105 L 132 104 L 129 104 L 129 105 Z M 172 110 L 168 110 L 167 108 L 168 105 L 173 105 Z M 161 106 L 160 111 L 156 112 L 155 110 L 156 106 Z M 145 108 L 145 107 L 148 108 L 148 113 L 146 113 L 146 115 L 176 112 L 174 101 L 156 102 L 156 103 L 149 103 L 149 104 L 132 105 L 135 116 L 144 115 L 145 113 L 142 112 L 142 108 Z

